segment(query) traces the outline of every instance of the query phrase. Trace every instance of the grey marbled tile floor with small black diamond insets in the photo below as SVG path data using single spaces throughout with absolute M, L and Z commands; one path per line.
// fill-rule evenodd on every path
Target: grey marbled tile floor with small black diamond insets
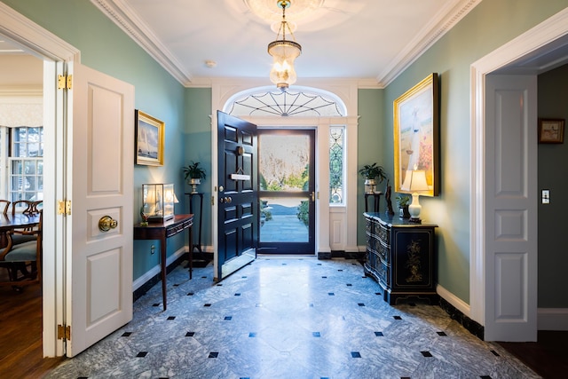
M 535 378 L 438 306 L 383 302 L 357 261 L 258 258 L 168 275 L 134 320 L 48 378 Z

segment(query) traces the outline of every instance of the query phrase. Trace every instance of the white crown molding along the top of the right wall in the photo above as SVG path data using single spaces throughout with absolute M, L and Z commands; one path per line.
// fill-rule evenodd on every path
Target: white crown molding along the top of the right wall
M 452 0 L 438 12 L 438 18 L 430 20 L 428 25 L 414 37 L 406 47 L 398 53 L 395 59 L 376 78 L 379 85 L 384 88 L 397 78 L 408 66 L 442 36 L 460 22 L 473 8 L 480 4 L 482 0 Z

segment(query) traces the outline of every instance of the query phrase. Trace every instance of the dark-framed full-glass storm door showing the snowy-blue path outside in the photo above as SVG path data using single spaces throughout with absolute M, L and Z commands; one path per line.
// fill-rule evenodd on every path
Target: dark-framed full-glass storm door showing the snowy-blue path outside
M 315 254 L 315 130 L 258 130 L 263 254 Z

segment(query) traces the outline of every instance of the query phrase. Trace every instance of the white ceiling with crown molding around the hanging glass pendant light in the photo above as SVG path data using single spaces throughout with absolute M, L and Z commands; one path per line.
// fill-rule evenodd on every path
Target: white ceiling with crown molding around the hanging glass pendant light
M 268 82 L 267 45 L 276 39 L 271 26 L 279 25 L 281 8 L 276 0 L 258 1 L 264 17 L 248 7 L 253 0 L 91 0 L 185 86 L 213 78 Z M 303 48 L 298 84 L 349 78 L 384 87 L 480 2 L 291 0 L 287 20 Z M 318 6 L 304 12 L 306 3 Z

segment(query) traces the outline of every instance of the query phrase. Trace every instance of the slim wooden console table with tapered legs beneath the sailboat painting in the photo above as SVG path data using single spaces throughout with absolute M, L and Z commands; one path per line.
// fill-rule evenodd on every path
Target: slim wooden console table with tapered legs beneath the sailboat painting
M 162 273 L 162 299 L 163 310 L 165 311 L 167 304 L 166 296 L 166 274 L 168 267 L 166 265 L 166 251 L 168 238 L 177 233 L 189 229 L 189 279 L 192 279 L 193 271 L 193 250 L 191 249 L 193 243 L 193 215 L 175 215 L 170 220 L 164 222 L 153 222 L 148 225 L 134 225 L 134 240 L 159 240 L 160 241 L 160 271 Z

